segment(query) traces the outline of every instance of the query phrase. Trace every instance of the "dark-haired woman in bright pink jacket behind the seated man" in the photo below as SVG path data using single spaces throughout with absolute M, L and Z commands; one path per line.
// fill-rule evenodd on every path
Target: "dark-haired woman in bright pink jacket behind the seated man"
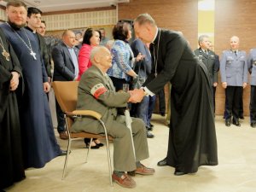
M 81 79 L 83 73 L 91 66 L 90 62 L 90 51 L 93 49 L 95 46 L 100 44 L 100 32 L 88 28 L 84 32 L 84 38 L 82 42 L 82 47 L 79 51 L 79 79 Z M 84 138 L 84 143 L 86 148 L 89 148 L 90 145 L 90 138 Z M 93 149 L 100 148 L 102 147 L 103 144 L 100 142 L 100 140 L 94 138 L 91 147 Z

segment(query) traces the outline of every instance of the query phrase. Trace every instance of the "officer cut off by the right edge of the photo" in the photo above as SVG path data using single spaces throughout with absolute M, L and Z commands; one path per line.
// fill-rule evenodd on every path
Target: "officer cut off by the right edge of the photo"
M 256 127 L 256 48 L 251 49 L 248 55 L 248 70 L 251 73 L 251 100 L 250 100 L 250 120 L 251 126 Z

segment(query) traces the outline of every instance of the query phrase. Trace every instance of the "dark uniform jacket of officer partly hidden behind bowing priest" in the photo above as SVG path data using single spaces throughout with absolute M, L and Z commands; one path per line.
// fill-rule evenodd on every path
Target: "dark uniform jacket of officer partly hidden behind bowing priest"
M 194 53 L 198 58 L 206 65 L 210 77 L 211 84 L 218 82 L 218 68 L 219 61 L 215 53 L 211 50 L 207 50 L 205 53 L 201 48 L 195 49 Z

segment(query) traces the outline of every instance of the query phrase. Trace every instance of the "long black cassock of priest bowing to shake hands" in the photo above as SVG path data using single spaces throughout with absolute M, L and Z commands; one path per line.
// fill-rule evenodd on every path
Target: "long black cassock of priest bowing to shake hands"
M 177 32 L 159 30 L 150 52 L 153 66 L 145 83 L 148 90 L 157 93 L 166 83 L 172 84 L 167 165 L 186 173 L 218 165 L 207 68 Z

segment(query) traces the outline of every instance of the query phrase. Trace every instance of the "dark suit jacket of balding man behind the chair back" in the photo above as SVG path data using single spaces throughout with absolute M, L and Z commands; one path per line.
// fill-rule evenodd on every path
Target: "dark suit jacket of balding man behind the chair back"
M 79 49 L 74 47 L 74 51 L 78 57 Z M 54 81 L 73 81 L 75 78 L 75 68 L 71 55 L 64 43 L 57 44 L 52 49 L 52 59 L 55 63 Z

